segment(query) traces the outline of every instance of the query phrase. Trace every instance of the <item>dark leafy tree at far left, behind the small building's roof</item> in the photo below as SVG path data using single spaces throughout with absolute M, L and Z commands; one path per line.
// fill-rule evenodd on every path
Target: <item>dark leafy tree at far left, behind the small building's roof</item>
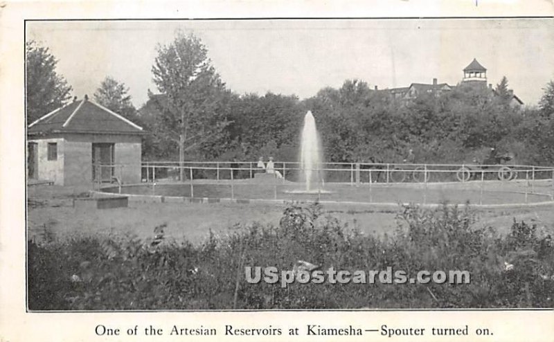
M 27 123 L 66 104 L 71 86 L 56 73 L 57 60 L 34 40 L 25 44 Z

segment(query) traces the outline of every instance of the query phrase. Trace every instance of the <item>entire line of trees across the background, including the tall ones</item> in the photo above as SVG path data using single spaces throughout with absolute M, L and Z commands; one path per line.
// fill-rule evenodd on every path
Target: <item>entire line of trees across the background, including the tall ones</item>
M 56 70 L 48 48 L 26 44 L 27 122 L 71 98 L 71 86 Z M 274 156 L 296 161 L 303 116 L 311 110 L 330 162 L 402 160 L 412 149 L 416 162 L 461 163 L 490 147 L 515 154 L 518 163 L 554 162 L 554 80 L 537 107 L 510 105 L 508 80 L 494 89 L 464 87 L 398 100 L 345 80 L 299 100 L 268 92 L 237 94 L 226 87 L 192 34 L 177 33 L 157 47 L 152 66 L 156 93 L 135 108 L 129 88 L 107 76 L 94 99 L 142 125 L 143 159 L 257 160 Z M 533 84 L 533 86 L 536 86 Z

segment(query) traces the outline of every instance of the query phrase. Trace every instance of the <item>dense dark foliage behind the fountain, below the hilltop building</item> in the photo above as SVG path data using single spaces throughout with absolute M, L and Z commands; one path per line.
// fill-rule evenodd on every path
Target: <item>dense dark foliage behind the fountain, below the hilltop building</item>
M 514 154 L 516 163 L 551 165 L 554 120 L 548 114 L 548 99 L 554 88 L 546 89 L 542 107 L 521 108 L 507 100 L 507 82 L 503 79 L 495 92 L 459 86 L 438 96 L 422 94 L 407 101 L 369 89 L 360 80 L 346 80 L 340 89 L 321 89 L 305 100 L 273 93 L 233 95 L 226 102 L 229 125 L 212 141 L 218 148 L 204 144 L 200 151 L 190 151 L 189 157 L 257 160 L 274 156 L 296 161 L 303 116 L 311 110 L 325 160 L 330 162 L 398 162 L 413 149 L 415 162 L 463 163 L 496 147 L 499 153 Z M 142 112 L 155 127 L 158 116 L 149 107 L 147 103 Z M 157 153 L 176 159 L 176 145 L 159 141 L 164 149 L 154 147 L 152 154 L 146 145 L 147 159 L 159 159 Z

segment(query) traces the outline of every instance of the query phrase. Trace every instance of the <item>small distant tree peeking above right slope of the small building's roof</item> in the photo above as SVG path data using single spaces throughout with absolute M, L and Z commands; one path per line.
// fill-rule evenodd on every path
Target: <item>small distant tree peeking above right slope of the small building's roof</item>
M 94 99 L 107 109 L 129 120 L 136 120 L 136 108 L 131 102 L 129 88 L 125 87 L 125 83 L 107 76 L 96 89 Z

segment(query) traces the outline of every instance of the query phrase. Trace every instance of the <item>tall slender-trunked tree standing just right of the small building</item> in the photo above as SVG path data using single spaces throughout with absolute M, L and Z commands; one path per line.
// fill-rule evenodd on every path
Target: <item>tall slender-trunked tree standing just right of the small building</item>
M 165 95 L 156 102 L 164 128 L 160 132 L 179 145 L 182 166 L 187 150 L 224 134 L 229 121 L 223 104 L 229 94 L 208 59 L 206 46 L 193 34 L 177 33 L 171 44 L 158 46 L 157 53 L 153 80 Z

